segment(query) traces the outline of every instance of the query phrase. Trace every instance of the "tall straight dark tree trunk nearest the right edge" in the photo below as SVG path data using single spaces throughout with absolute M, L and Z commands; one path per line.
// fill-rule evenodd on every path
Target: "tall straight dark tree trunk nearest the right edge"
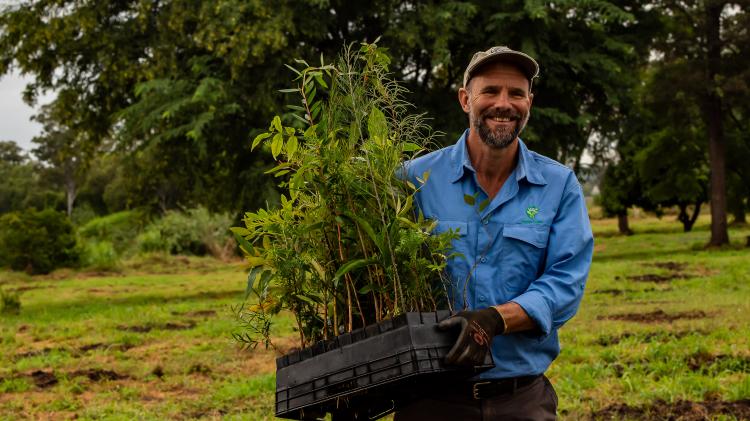
M 726 145 L 722 127 L 722 101 L 716 86 L 717 76 L 721 69 L 721 39 L 719 30 L 723 2 L 706 2 L 706 40 L 708 41 L 708 91 L 706 92 L 706 109 L 708 119 L 709 158 L 711 161 L 711 240 L 710 246 L 721 246 L 729 243 L 727 231 L 727 197 L 726 197 Z

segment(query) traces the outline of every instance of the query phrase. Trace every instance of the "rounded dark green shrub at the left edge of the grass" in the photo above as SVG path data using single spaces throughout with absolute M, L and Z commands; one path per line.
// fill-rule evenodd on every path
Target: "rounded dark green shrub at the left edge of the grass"
M 0 217 L 0 263 L 28 273 L 48 273 L 78 263 L 76 236 L 68 217 L 52 209 Z

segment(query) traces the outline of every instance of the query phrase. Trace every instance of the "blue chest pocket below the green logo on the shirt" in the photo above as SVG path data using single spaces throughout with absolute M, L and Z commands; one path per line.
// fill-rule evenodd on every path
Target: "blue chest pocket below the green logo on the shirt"
M 542 274 L 547 255 L 549 225 L 505 225 L 502 238 L 502 274 L 506 299 L 529 288 Z

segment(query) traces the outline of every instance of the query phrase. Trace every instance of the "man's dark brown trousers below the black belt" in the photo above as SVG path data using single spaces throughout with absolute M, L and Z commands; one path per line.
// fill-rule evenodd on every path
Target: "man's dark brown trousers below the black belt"
M 394 421 L 547 421 L 555 420 L 557 394 L 545 376 L 515 393 L 475 400 L 471 395 L 446 390 L 396 412 Z

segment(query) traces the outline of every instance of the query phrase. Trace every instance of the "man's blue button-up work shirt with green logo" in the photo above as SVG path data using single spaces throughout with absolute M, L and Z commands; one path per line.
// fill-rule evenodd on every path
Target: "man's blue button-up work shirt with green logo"
M 467 135 L 409 161 L 407 174 L 417 186 L 427 178 L 416 195 L 425 217 L 438 221 L 438 231 L 458 231 L 453 251 L 459 256 L 447 268 L 453 309 L 512 301 L 538 328 L 496 336 L 495 368 L 481 377 L 541 374 L 560 353 L 557 330 L 576 313 L 591 266 L 594 240 L 583 192 L 573 171 L 519 139 L 518 165 L 488 200 Z

